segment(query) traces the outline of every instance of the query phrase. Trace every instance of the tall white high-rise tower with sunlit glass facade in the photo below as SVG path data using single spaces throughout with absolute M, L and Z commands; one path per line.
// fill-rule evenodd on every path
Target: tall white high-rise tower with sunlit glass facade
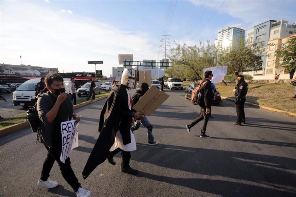
M 233 47 L 238 47 L 241 39 L 245 37 L 245 30 L 237 27 L 228 27 L 218 33 L 215 46 L 219 52 L 229 52 Z

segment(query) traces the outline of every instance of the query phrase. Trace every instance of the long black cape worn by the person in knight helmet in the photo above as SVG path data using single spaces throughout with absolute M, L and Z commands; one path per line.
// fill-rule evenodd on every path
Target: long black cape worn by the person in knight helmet
M 118 130 L 122 135 L 123 144 L 131 143 L 130 127 L 134 113 L 127 105 L 128 95 L 126 88 L 127 86 L 124 85 L 114 86 L 103 106 L 98 129 L 100 135 L 82 172 L 84 179 L 86 179 L 99 164 L 107 159 L 107 155 L 114 144 Z

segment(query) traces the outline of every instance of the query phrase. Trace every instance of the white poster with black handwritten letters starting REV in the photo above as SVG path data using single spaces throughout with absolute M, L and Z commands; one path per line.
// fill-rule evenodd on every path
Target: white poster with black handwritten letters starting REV
M 78 147 L 78 126 L 76 120 L 61 123 L 62 132 L 62 153 L 60 160 L 65 163 L 73 148 Z

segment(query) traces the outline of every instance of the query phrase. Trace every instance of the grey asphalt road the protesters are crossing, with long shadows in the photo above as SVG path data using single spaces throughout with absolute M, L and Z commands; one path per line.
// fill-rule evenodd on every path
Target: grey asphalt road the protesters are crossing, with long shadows
M 188 134 L 185 124 L 198 116 L 199 107 L 184 99 L 183 91 L 165 89 L 170 97 L 149 117 L 156 146 L 147 145 L 145 128 L 135 131 L 137 150 L 131 166 L 138 175 L 121 173 L 107 161 L 84 180 L 82 170 L 97 140 L 99 115 L 105 100 L 78 110 L 79 147 L 71 164 L 81 185 L 92 196 L 296 196 L 296 121 L 245 107 L 247 124 L 234 126 L 234 103 L 212 107 L 213 119 L 200 138 L 201 123 Z M 29 129 L 0 138 L 0 196 L 76 196 L 58 165 L 51 179 L 59 186 L 38 187 L 47 151 L 36 144 Z

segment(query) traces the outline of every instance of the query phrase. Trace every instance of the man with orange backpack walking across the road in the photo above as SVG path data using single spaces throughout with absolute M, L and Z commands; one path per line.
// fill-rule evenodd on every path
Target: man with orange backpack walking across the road
M 201 120 L 203 120 L 203 125 L 201 129 L 201 134 L 199 137 L 201 138 L 211 138 L 211 135 L 206 134 L 207 124 L 209 120 L 209 114 L 211 112 L 211 104 L 213 99 L 213 92 L 212 92 L 212 85 L 211 85 L 211 79 L 213 77 L 212 71 L 207 70 L 204 73 L 204 80 L 195 87 L 195 89 L 198 89 L 198 92 L 195 92 L 197 94 L 192 94 L 191 101 L 193 103 L 197 103 L 200 106 L 200 116 L 195 119 L 192 123 L 185 125 L 188 133 L 191 133 L 191 128 L 194 127 L 197 123 L 199 123 Z M 196 96 L 196 97 L 195 97 Z

